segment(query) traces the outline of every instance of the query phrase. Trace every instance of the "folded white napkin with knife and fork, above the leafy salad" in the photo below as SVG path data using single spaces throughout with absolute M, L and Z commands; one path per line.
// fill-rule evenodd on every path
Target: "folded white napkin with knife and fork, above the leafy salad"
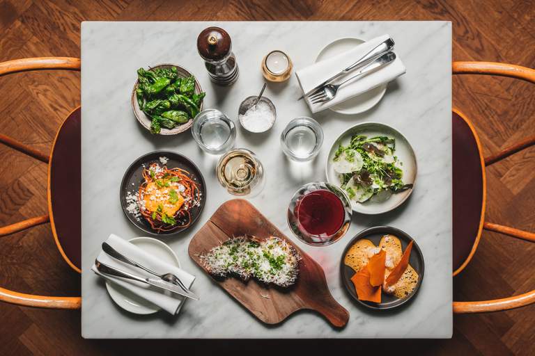
M 394 40 L 382 35 L 297 70 L 310 110 L 317 113 L 405 74 L 405 65 L 393 49 Z

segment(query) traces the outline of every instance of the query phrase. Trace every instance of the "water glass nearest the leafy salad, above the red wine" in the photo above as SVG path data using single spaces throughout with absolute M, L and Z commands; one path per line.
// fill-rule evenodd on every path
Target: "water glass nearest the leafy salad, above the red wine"
M 304 162 L 316 157 L 323 143 L 323 130 L 316 120 L 295 118 L 281 133 L 282 151 L 292 161 Z

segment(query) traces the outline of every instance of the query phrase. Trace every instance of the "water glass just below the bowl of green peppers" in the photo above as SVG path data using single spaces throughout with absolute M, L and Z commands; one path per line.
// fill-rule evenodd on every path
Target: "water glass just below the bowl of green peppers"
M 195 116 L 192 134 L 197 145 L 205 152 L 222 154 L 234 146 L 236 128 L 224 113 L 209 108 Z

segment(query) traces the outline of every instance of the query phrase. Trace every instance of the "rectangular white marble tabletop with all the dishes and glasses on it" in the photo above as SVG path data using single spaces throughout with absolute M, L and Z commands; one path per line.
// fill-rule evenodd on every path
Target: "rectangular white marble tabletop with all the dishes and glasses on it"
M 451 336 L 449 22 L 84 22 L 81 145 L 84 337 Z

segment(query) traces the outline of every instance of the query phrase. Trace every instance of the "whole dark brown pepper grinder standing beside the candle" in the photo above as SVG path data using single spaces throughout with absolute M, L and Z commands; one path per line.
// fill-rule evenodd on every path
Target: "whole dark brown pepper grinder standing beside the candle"
M 199 33 L 197 50 L 205 60 L 210 78 L 220 86 L 231 86 L 238 79 L 238 63 L 232 53 L 231 36 L 220 27 L 208 27 Z

